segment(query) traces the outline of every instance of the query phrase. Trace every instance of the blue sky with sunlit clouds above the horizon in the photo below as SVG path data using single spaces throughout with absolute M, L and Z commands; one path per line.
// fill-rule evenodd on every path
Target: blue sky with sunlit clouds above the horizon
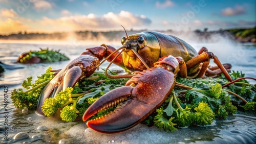
M 256 26 L 255 0 L 0 0 L 0 34 Z

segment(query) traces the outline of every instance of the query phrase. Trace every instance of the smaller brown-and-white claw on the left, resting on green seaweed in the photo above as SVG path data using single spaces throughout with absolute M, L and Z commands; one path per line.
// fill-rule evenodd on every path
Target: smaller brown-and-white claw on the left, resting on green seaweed
M 67 87 L 73 87 L 81 78 L 91 76 L 96 70 L 98 63 L 99 59 L 90 55 L 81 55 L 71 61 L 42 90 L 36 112 L 44 115 L 41 106 L 47 98 L 53 98 L 61 90 L 65 90 Z

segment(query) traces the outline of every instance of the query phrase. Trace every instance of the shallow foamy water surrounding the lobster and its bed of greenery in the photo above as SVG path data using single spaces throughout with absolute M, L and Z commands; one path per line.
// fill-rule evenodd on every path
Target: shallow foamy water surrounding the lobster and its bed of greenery
M 0 143 L 255 143 L 256 115 L 239 112 L 223 120 L 216 120 L 212 126 L 189 127 L 179 129 L 173 133 L 160 131 L 155 127 L 138 125 L 130 130 L 118 134 L 101 134 L 86 127 L 86 123 L 66 123 L 56 119 L 38 116 L 34 111 L 23 113 L 11 104 L 10 94 L 14 88 L 20 88 L 21 83 L 29 76 L 39 76 L 51 65 L 53 69 L 64 67 L 69 61 L 58 63 L 43 63 L 23 65 L 15 63 L 16 58 L 23 52 L 39 50 L 39 47 L 60 50 L 71 60 L 80 55 L 86 47 L 99 44 L 67 44 L 67 43 L 0 43 L 0 61 L 12 65 L 0 76 Z M 256 77 L 256 46 L 245 46 L 230 42 L 191 43 L 196 50 L 206 46 L 214 52 L 221 62 L 232 64 L 232 70 L 242 70 L 246 77 Z M 120 45 L 117 45 L 120 46 Z M 104 68 L 104 64 L 101 68 Z M 112 66 L 111 69 L 120 69 Z M 250 81 L 255 84 L 255 81 Z M 4 88 L 8 87 L 7 111 L 4 109 Z M 8 117 L 4 117 L 5 115 Z M 7 122 L 7 123 L 5 123 Z M 4 134 L 8 124 L 8 140 Z M 38 130 L 39 126 L 46 126 L 46 130 Z M 43 131 L 44 130 L 44 131 Z M 13 140 L 18 132 L 26 132 L 29 138 Z

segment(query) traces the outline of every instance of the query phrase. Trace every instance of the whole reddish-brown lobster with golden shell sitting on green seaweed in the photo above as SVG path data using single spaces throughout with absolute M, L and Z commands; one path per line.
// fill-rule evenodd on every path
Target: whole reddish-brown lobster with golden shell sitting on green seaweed
M 103 133 L 124 131 L 143 121 L 173 90 L 176 76 L 204 78 L 223 73 L 228 81 L 232 81 L 227 72 L 230 64 L 222 65 L 217 56 L 205 47 L 197 53 L 191 45 L 175 36 L 159 32 L 126 34 L 121 43 L 123 46 L 117 50 L 105 44 L 91 47 L 59 71 L 40 95 L 37 112 L 44 115 L 41 106 L 46 98 L 74 86 L 82 77 L 89 77 L 105 60 L 111 61 L 110 65 L 115 63 L 131 71 L 136 70 L 137 75 L 112 76 L 106 73 L 110 65 L 106 68 L 105 74 L 110 78 L 132 78 L 125 86 L 102 95 L 84 113 L 82 119 L 87 121 L 98 111 L 122 102 L 111 114 L 87 122 L 88 127 Z M 103 57 L 105 59 L 98 64 Z M 210 59 L 214 59 L 217 66 L 209 67 Z

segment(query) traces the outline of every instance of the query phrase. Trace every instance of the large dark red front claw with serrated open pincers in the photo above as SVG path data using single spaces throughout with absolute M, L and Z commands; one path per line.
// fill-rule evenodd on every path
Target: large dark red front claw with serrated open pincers
M 87 126 L 102 133 L 117 133 L 130 129 L 154 112 L 172 92 L 179 63 L 173 56 L 156 62 L 155 67 L 138 72 L 126 86 L 114 89 L 100 97 L 83 114 L 83 121 L 106 108 L 117 108 L 110 114 L 87 122 Z M 135 84 L 136 86 L 128 86 Z

